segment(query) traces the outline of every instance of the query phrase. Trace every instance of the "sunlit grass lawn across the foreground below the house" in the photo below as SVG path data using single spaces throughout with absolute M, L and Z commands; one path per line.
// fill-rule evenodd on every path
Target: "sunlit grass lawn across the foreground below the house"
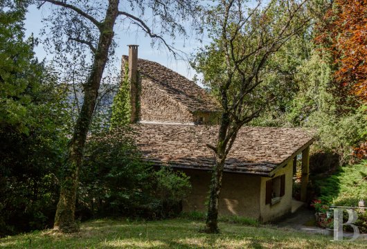
M 198 232 L 204 223 L 188 219 L 84 222 L 76 234 L 36 231 L 0 239 L 0 248 L 367 248 L 367 241 L 331 242 L 332 237 L 269 225 L 220 223 L 221 234 Z

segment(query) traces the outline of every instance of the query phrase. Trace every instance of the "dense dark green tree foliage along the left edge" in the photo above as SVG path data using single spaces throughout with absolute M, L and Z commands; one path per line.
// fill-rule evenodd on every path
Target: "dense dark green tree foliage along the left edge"
M 0 1 L 0 237 L 42 229 L 66 147 L 64 91 L 24 40 L 26 1 Z

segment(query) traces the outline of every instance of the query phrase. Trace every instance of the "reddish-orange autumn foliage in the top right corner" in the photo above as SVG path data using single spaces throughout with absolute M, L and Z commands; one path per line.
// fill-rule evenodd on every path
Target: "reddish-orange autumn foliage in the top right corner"
M 330 50 L 343 91 L 367 101 L 367 0 L 335 0 L 316 38 Z M 350 92 L 351 91 L 351 92 Z

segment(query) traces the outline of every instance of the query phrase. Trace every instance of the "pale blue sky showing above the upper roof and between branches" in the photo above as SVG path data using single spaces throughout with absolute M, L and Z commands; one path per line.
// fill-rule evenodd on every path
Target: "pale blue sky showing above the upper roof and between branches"
M 40 37 L 39 31 L 43 27 L 42 17 L 46 17 L 48 15 L 47 8 L 42 8 L 38 10 L 35 6 L 30 6 L 28 13 L 26 15 L 25 28 L 26 28 L 26 37 L 30 36 L 32 33 L 35 37 Z M 150 46 L 151 39 L 149 37 L 145 37 L 144 33 L 139 32 L 138 30 L 133 30 L 127 33 L 124 30 L 119 30 L 119 26 L 116 25 L 116 42 L 118 43 L 118 48 L 116 49 L 116 56 L 120 58 L 122 55 L 127 55 L 128 44 L 138 44 L 138 57 L 142 59 L 150 59 L 154 62 L 159 62 L 163 66 L 167 66 L 171 68 L 173 71 L 180 73 L 181 75 L 192 79 L 195 75 L 195 71 L 193 68 L 190 68 L 187 62 L 183 62 L 182 60 L 177 61 L 172 57 L 172 54 L 168 53 L 164 48 L 152 48 Z M 166 39 L 169 44 L 172 44 L 172 39 L 169 37 Z M 196 48 L 203 46 L 193 37 L 188 37 L 186 41 L 183 39 L 177 39 L 174 41 L 174 47 L 183 50 L 185 53 L 194 53 Z M 46 51 L 42 44 L 39 44 L 35 48 L 36 56 L 39 59 L 51 60 L 52 57 L 47 55 Z M 118 59 L 118 63 L 120 63 L 120 59 Z M 120 65 L 118 65 L 120 68 Z

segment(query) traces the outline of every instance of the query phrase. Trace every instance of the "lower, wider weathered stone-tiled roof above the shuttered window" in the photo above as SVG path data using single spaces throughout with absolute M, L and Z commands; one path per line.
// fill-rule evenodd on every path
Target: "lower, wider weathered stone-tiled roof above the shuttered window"
M 136 142 L 145 160 L 156 165 L 212 169 L 218 126 L 134 124 Z M 227 157 L 224 171 L 271 176 L 312 143 L 301 129 L 242 127 Z

